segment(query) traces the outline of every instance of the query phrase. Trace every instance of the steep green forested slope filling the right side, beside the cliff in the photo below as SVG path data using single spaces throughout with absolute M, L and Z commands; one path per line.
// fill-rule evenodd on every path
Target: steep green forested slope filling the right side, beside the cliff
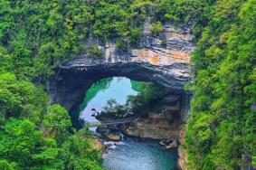
M 256 2 L 221 0 L 210 8 L 193 58 L 189 164 L 191 169 L 248 167 L 256 156 Z

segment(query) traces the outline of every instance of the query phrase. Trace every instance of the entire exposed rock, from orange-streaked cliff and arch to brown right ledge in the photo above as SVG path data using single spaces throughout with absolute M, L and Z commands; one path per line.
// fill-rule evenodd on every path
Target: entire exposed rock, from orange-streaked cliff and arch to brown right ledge
M 66 109 L 73 109 L 81 102 L 93 82 L 107 77 L 122 76 L 132 80 L 152 81 L 166 88 L 178 102 L 176 106 L 166 108 L 166 112 L 161 110 L 162 114 L 151 114 L 149 118 L 138 120 L 127 128 L 127 133 L 157 139 L 173 137 L 180 142 L 190 110 L 191 94 L 183 88 L 191 80 L 188 69 L 191 52 L 194 51 L 191 27 L 176 29 L 173 24 L 165 24 L 164 32 L 154 37 L 148 31 L 148 22 L 150 18 L 144 25 L 141 41 L 129 46 L 126 51 L 120 50 L 115 40 L 100 42 L 90 37 L 85 47 L 98 45 L 102 57 L 86 58 L 88 54 L 83 53 L 73 60 L 64 61 L 56 78 L 47 84 L 51 103 L 60 103 Z M 175 115 L 169 114 L 169 109 L 175 109 Z

